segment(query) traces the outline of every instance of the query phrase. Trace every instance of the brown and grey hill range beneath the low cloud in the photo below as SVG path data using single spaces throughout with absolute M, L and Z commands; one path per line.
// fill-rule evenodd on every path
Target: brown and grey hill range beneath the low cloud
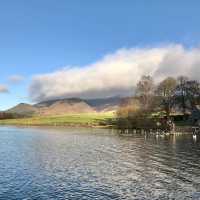
M 67 113 L 114 112 L 122 98 L 79 99 L 66 98 L 40 102 L 34 105 L 20 103 L 7 110 L 22 115 L 64 115 Z

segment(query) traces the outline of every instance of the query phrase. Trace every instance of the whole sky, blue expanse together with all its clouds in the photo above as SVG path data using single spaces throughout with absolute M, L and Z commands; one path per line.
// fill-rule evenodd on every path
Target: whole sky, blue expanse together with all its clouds
M 198 0 L 0 0 L 0 110 L 128 95 L 200 72 Z

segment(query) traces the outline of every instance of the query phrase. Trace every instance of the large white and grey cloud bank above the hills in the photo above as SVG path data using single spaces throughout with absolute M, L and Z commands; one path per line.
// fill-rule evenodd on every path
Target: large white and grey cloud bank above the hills
M 105 97 L 131 94 L 142 75 L 155 80 L 186 75 L 199 79 L 200 49 L 181 45 L 120 49 L 82 67 L 67 67 L 37 75 L 30 86 L 30 97 L 43 101 L 62 97 Z

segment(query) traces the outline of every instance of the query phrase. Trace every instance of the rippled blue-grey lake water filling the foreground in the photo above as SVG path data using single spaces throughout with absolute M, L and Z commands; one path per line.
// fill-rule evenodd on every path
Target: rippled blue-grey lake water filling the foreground
M 200 199 L 200 138 L 1 127 L 0 199 Z

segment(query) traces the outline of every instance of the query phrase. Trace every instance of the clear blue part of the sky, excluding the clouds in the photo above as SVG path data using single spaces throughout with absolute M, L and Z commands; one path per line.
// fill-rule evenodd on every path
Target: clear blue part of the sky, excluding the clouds
M 118 49 L 200 44 L 198 0 L 0 1 L 0 109 L 31 102 L 33 76 L 87 66 Z M 11 83 L 10 76 L 23 76 Z

